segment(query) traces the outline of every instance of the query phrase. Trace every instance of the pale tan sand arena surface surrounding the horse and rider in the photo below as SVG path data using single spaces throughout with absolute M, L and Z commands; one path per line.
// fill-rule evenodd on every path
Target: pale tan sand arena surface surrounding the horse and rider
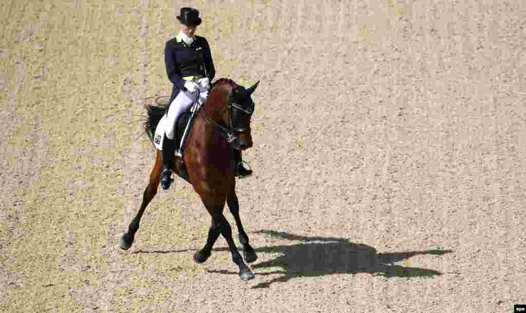
M 241 281 L 177 180 L 138 210 L 197 7 L 217 77 L 254 94 Z M 520 1 L 0 4 L 3 312 L 511 312 L 526 303 Z M 227 214 L 234 234 L 237 229 Z M 237 237 L 237 235 L 236 235 Z M 236 238 L 237 239 L 237 238 Z

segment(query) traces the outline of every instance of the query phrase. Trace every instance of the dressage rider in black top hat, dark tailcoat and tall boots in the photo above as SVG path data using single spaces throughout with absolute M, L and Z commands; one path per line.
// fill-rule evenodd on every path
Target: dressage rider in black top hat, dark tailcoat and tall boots
M 168 40 L 165 47 L 165 65 L 168 79 L 174 84 L 168 108 L 168 127 L 163 140 L 164 169 L 161 173 L 163 189 L 170 187 L 174 164 L 174 132 L 175 123 L 181 113 L 185 112 L 198 99 L 204 102 L 208 98 L 210 81 L 214 79 L 216 70 L 210 46 L 205 37 L 196 36 L 196 28 L 201 24 L 199 11 L 195 8 L 181 8 L 177 19 L 181 23 L 179 34 Z M 252 173 L 242 165 L 241 152 L 234 149 L 234 158 L 238 166 L 238 176 L 248 176 Z

